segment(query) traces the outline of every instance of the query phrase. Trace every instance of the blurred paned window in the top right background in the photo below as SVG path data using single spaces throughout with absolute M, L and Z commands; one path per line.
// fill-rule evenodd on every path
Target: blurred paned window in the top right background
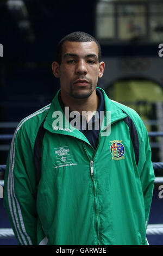
M 163 40 L 162 1 L 99 0 L 96 5 L 96 37 L 107 42 L 160 42 Z

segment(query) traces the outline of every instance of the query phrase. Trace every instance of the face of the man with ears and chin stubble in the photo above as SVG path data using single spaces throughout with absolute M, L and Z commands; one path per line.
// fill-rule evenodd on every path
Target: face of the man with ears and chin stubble
M 61 95 L 75 99 L 89 97 L 102 77 L 104 63 L 98 62 L 96 42 L 65 41 L 61 64 L 52 64 L 53 73 L 60 79 Z

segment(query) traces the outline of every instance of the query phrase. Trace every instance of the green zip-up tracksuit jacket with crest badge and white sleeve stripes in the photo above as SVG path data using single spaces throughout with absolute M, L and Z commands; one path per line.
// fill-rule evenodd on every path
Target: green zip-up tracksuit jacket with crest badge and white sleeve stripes
M 65 128 L 67 119 L 55 124 L 56 111 L 63 113 L 58 93 L 17 126 L 5 172 L 4 205 L 21 245 L 147 244 L 154 184 L 148 133 L 133 109 L 102 92 L 105 118 L 96 150 L 82 132 Z M 109 111 L 111 125 L 106 123 Z M 34 144 L 43 119 L 37 186 Z

